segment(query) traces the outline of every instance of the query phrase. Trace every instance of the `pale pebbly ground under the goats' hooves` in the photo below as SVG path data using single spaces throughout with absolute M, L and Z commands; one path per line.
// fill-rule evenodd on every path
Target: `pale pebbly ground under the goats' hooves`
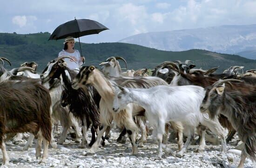
M 220 154 L 221 146 L 214 146 L 207 143 L 205 151 L 195 153 L 197 145 L 191 145 L 188 153 L 182 158 L 175 157 L 177 151 L 176 143 L 168 143 L 168 147 L 175 152 L 173 155 L 164 155 L 162 159 L 156 157 L 157 144 L 153 137 L 148 137 L 148 143 L 143 148 L 139 148 L 138 156 L 131 156 L 131 147 L 129 141 L 121 144 L 116 143 L 119 135 L 118 130 L 111 134 L 110 140 L 106 142 L 105 147 L 96 150 L 96 154 L 87 155 L 88 149 L 80 149 L 79 143 L 74 143 L 68 137 L 63 145 L 58 145 L 58 149 L 49 148 L 48 159 L 46 163 L 38 164 L 35 158 L 35 142 L 33 147 L 27 151 L 22 151 L 26 143 L 13 144 L 12 141 L 7 141 L 7 152 L 10 157 L 10 167 L 68 167 L 68 168 L 236 168 L 240 156 L 233 153 L 225 155 Z M 55 134 L 55 139 L 58 139 L 59 134 Z M 91 134 L 88 133 L 90 139 Z M 237 138 L 237 137 L 236 137 Z M 234 140 L 236 141 L 236 139 Z M 228 149 L 234 146 L 228 144 Z M 0 156 L 2 163 L 2 156 Z M 256 168 L 256 163 L 246 159 L 245 167 Z

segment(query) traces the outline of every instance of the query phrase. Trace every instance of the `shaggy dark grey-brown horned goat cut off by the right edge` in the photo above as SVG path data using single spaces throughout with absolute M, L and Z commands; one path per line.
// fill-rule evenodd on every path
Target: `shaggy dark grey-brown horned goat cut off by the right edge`
M 249 93 L 243 93 L 232 86 L 233 89 L 228 90 L 225 83 L 231 81 L 238 80 L 217 81 L 207 87 L 200 109 L 203 113 L 207 112 L 210 118 L 216 118 L 219 114 L 228 118 L 244 143 L 238 165 L 238 168 L 243 168 L 246 157 L 256 161 L 256 87 L 241 82 L 244 88 L 250 88 Z

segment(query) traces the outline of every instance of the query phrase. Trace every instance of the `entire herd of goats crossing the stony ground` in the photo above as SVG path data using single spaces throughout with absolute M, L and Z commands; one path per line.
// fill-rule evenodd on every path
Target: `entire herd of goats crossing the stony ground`
M 163 62 L 150 73 L 148 69 L 122 72 L 118 60 L 124 61 L 126 68 L 127 62 L 112 56 L 100 64 L 101 69 L 84 66 L 77 71 L 67 68 L 64 58 L 72 59 L 58 57 L 38 74 L 35 62 L 7 71 L 4 61 L 11 62 L 0 57 L 3 165 L 9 164 L 4 138 L 10 133 L 16 139 L 21 139 L 24 132 L 30 133 L 24 149 L 31 147 L 37 137 L 36 158 L 45 162 L 49 143 L 57 148 L 71 128 L 74 140 L 81 138 L 80 145 L 86 148 L 87 130 L 91 127 L 88 153 L 94 153 L 110 137 L 113 121 L 121 129 L 117 141 L 125 140 L 127 134 L 132 155 L 138 154 L 138 132 L 139 146 L 147 142 L 148 121 L 159 144 L 160 158 L 162 149 L 172 153 L 166 145 L 171 129 L 177 137 L 177 157 L 187 151 L 195 131 L 200 135 L 197 152 L 204 150 L 206 131 L 210 131 L 220 137 L 222 154 L 226 152 L 226 141 L 237 132 L 243 142 L 238 167 L 243 167 L 246 157 L 256 161 L 256 69 L 243 73 L 244 67 L 232 66 L 222 74 L 213 74 L 217 68 L 196 69 L 186 60 Z M 58 123 L 63 131 L 55 143 L 52 128 Z M 187 137 L 185 143 L 183 134 Z

